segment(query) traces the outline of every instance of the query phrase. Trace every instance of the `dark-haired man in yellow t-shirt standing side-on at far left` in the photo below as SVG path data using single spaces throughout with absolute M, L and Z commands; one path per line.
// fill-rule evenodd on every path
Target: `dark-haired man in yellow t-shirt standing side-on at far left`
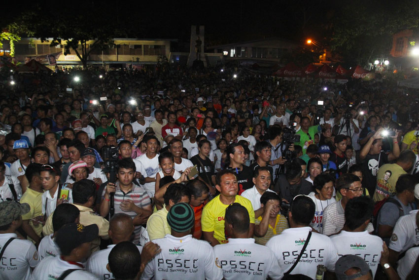
M 20 199 L 20 203 L 28 203 L 31 207 L 28 213 L 22 215 L 22 228 L 28 235 L 28 240 L 35 243 L 36 247 L 41 241 L 42 234 L 42 184 L 39 177 L 41 164 L 31 163 L 26 168 L 25 176 L 29 186 Z

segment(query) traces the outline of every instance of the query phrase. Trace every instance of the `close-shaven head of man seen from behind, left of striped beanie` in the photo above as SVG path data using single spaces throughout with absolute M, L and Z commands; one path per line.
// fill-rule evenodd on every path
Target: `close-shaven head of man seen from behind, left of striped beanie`
M 129 241 L 134 231 L 133 219 L 124 213 L 117 213 L 109 221 L 109 238 L 113 244 Z

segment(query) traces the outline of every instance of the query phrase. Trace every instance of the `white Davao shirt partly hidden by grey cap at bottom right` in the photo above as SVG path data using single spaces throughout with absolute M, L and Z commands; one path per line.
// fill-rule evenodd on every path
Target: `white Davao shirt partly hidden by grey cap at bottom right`
M 339 257 L 343 255 L 357 255 L 364 259 L 369 265 L 373 278 L 380 264 L 381 251 L 383 251 L 383 240 L 368 231 L 347 232 L 341 231 L 338 235 L 330 237 L 338 251 Z

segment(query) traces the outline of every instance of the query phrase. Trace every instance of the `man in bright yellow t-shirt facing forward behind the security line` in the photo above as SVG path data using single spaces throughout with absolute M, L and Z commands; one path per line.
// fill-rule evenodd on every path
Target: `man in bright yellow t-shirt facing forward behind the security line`
M 217 173 L 215 182 L 215 188 L 220 194 L 208 202 L 202 211 L 201 225 L 204 239 L 210 242 L 211 246 L 228 242 L 224 232 L 225 209 L 235 202 L 243 205 L 249 212 L 248 238 L 252 238 L 255 223 L 253 207 L 249 200 L 237 195 L 239 186 L 236 175 L 232 170 L 222 170 Z

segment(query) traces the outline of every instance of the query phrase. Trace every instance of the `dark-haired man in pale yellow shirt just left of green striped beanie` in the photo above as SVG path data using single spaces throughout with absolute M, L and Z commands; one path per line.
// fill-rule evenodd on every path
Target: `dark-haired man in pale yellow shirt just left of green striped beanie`
M 191 194 L 189 190 L 181 184 L 170 185 L 163 196 L 165 204 L 163 208 L 153 213 L 147 220 L 147 227 L 150 241 L 164 238 L 165 235 L 171 234 L 171 228 L 167 222 L 167 214 L 173 205 L 180 202 L 189 203 Z

